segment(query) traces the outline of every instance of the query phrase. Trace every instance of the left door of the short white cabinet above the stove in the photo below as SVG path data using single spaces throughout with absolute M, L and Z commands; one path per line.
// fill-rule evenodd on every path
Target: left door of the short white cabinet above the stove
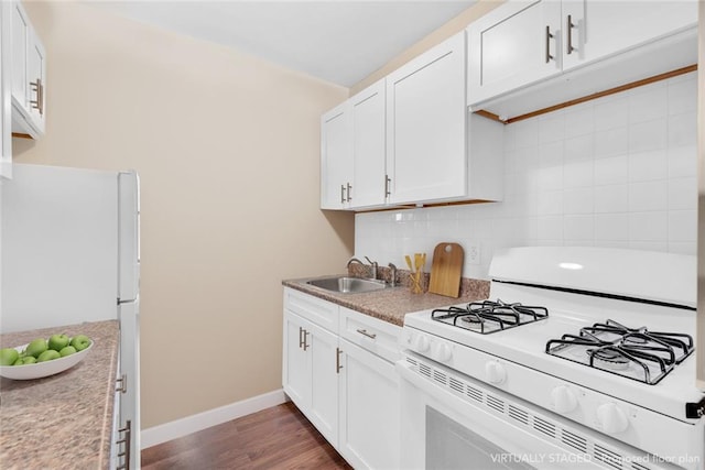
M 468 105 L 561 73 L 561 2 L 510 1 L 468 26 Z

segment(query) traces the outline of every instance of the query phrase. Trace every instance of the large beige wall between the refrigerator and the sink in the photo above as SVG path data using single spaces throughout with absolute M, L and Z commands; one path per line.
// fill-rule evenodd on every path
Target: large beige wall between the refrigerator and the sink
M 85 3 L 25 6 L 47 123 L 15 162 L 141 176 L 142 428 L 280 389 L 281 280 L 352 253 L 352 216 L 318 210 L 319 116 L 348 90 Z

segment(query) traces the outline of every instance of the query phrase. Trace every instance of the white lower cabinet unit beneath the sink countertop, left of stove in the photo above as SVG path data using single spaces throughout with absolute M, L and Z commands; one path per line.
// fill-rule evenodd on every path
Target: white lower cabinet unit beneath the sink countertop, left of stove
M 284 288 L 284 392 L 356 469 L 399 467 L 400 332 Z

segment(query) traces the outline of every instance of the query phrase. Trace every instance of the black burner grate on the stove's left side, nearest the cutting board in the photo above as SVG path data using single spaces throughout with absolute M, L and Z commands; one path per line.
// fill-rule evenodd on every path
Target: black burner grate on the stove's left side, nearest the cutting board
M 465 308 L 455 306 L 436 308 L 431 314 L 431 318 L 436 321 L 482 335 L 531 324 L 547 317 L 549 310 L 545 307 L 533 307 L 519 303 L 507 304 L 499 298 L 497 302 L 473 302 Z

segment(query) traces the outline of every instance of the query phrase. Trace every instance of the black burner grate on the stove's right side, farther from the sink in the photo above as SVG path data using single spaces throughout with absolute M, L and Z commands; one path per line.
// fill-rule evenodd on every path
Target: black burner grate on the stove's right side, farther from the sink
M 550 340 L 545 352 L 653 385 L 694 349 L 688 335 L 628 328 L 607 320 L 582 328 L 579 335 Z

